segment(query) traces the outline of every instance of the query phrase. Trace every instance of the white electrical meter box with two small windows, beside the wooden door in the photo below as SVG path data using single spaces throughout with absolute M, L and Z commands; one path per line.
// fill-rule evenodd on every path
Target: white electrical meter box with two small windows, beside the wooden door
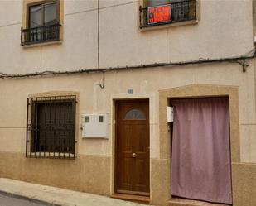
M 82 137 L 109 139 L 109 114 L 83 114 Z

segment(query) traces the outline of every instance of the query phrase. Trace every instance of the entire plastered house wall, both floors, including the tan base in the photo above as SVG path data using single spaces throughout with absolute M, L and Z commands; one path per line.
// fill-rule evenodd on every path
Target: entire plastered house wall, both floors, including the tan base
M 22 3 L 22 0 L 0 1 L 0 72 L 97 68 L 97 1 L 64 0 L 63 42 L 31 48 L 20 46 Z M 218 3 L 200 0 L 199 3 L 200 21 L 196 25 L 140 31 L 138 1 L 100 0 L 99 65 L 104 68 L 224 58 L 253 49 L 250 0 Z M 227 15 L 227 11 L 233 12 Z M 248 195 L 255 194 L 255 181 L 249 177 L 254 175 L 256 163 L 256 74 L 254 60 L 248 63 L 245 73 L 240 65 L 230 63 L 109 72 L 105 75 L 104 89 L 97 85 L 102 82 L 102 74 L 0 79 L 0 176 L 111 194 L 114 131 L 110 129 L 109 140 L 83 140 L 78 129 L 76 160 L 26 159 L 27 97 L 51 91 L 79 93 L 77 127 L 82 113 L 113 114 L 114 99 L 146 97 L 150 101 L 151 117 L 151 199 L 152 203 L 167 204 L 170 161 L 167 153 L 162 152 L 158 91 L 194 84 L 222 85 L 238 89 L 239 130 L 234 132 L 239 136 L 239 148 L 235 152 L 239 158 L 233 164 L 235 206 L 252 206 L 254 202 Z M 133 89 L 133 94 L 128 94 L 128 89 Z M 114 116 L 110 116 L 109 127 L 113 128 Z M 54 175 L 46 175 L 48 172 Z M 70 174 L 70 179 L 65 181 Z M 243 186 L 246 183 L 248 188 Z

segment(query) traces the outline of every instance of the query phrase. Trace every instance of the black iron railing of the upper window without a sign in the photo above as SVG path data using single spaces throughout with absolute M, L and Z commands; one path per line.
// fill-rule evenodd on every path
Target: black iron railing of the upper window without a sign
M 38 26 L 21 30 L 21 45 L 31 45 L 60 40 L 60 24 Z

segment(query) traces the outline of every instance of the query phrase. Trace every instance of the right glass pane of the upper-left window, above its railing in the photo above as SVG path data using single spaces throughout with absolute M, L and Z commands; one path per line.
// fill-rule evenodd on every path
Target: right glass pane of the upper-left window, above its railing
M 57 23 L 57 5 L 55 3 L 50 3 L 44 5 L 45 8 L 45 19 L 44 25 L 53 25 Z

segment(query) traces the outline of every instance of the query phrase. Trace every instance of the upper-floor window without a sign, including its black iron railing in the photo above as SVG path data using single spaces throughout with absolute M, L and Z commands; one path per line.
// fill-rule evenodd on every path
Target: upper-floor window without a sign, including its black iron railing
M 60 3 L 45 1 L 27 5 L 27 28 L 22 29 L 22 46 L 60 40 Z

